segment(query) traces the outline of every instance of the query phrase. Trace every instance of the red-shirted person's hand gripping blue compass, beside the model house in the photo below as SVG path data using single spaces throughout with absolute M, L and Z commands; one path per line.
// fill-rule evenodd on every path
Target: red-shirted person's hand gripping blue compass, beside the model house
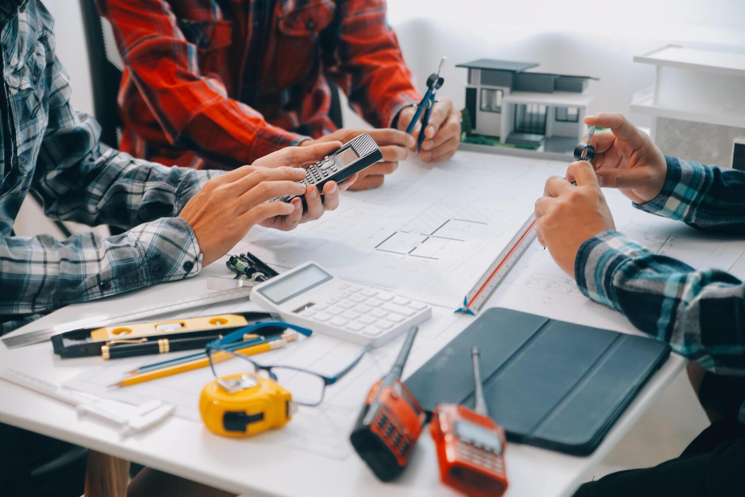
M 405 107 L 399 113 L 397 124 L 399 130 L 406 130 L 415 113 L 416 107 Z M 424 130 L 425 140 L 419 150 L 419 158 L 424 162 L 440 162 L 450 159 L 460 144 L 461 118 L 460 110 L 453 108 L 453 103 L 449 98 L 437 101 L 432 107 L 429 123 Z M 421 127 L 422 123 L 419 121 L 411 132 L 415 139 L 414 148 L 416 148 L 416 138 L 419 136 Z

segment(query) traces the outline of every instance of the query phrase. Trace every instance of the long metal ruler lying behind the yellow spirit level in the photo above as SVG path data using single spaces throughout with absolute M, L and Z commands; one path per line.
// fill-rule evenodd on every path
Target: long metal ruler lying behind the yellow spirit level
M 124 312 L 122 314 L 103 314 L 101 316 L 88 317 L 86 319 L 63 323 L 50 328 L 39 329 L 36 332 L 21 333 L 2 339 L 8 349 L 16 349 L 31 344 L 50 340 L 54 335 L 64 332 L 72 332 L 75 329 L 92 328 L 99 326 L 110 326 L 112 324 L 125 324 L 142 320 L 145 317 L 159 316 L 171 312 L 183 311 L 184 309 L 209 306 L 230 300 L 247 299 L 251 294 L 251 287 L 229 288 L 227 290 L 212 291 L 204 297 L 188 297 L 168 304 L 142 307 Z

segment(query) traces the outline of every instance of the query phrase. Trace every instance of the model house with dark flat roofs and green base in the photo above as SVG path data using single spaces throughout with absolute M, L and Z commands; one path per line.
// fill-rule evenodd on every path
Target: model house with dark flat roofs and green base
M 468 69 L 466 142 L 501 144 L 537 151 L 572 153 L 585 133 L 583 118 L 592 95 L 589 76 L 527 72 L 536 63 L 481 59 Z M 467 128 L 467 123 L 464 123 Z

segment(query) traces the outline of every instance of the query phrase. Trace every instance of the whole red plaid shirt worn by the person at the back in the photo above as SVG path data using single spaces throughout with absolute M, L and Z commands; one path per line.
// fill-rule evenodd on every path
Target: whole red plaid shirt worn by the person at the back
M 385 0 L 98 6 L 126 66 L 121 150 L 156 162 L 232 168 L 329 133 L 326 77 L 376 127 L 421 98 L 385 22 Z

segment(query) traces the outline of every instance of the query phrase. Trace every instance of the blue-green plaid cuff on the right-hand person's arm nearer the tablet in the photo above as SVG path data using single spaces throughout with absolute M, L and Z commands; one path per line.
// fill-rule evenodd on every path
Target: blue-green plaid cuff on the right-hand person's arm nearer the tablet
M 618 231 L 604 231 L 580 245 L 574 259 L 577 288 L 592 300 L 621 311 L 615 296 L 613 279 L 627 262 L 649 255 L 641 245 Z

